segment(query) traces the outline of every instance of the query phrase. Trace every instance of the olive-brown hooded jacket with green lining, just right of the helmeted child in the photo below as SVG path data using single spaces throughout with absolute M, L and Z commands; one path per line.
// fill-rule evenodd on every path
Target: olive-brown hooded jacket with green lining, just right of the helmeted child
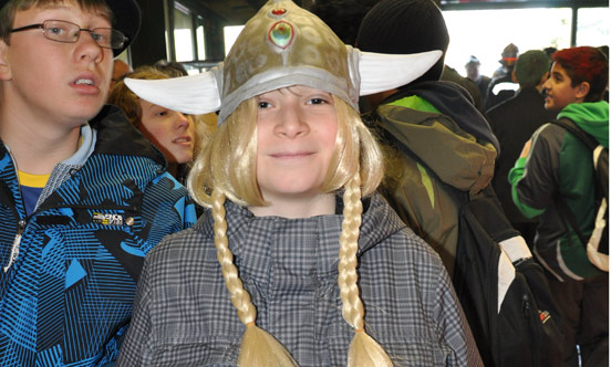
M 427 98 L 397 94 L 370 117 L 385 143 L 386 177 L 381 192 L 410 228 L 439 253 L 452 276 L 458 240 L 456 192 L 475 195 L 489 185 L 497 150 L 484 117 L 468 114 L 476 112 L 473 105 L 465 99 L 467 113 L 460 114 L 457 103 L 463 99 L 439 97 L 458 93 L 438 84 L 431 88 L 436 94 L 426 94 Z M 437 106 L 454 106 L 453 116 Z M 467 133 L 476 128 L 484 132 L 480 138 Z

